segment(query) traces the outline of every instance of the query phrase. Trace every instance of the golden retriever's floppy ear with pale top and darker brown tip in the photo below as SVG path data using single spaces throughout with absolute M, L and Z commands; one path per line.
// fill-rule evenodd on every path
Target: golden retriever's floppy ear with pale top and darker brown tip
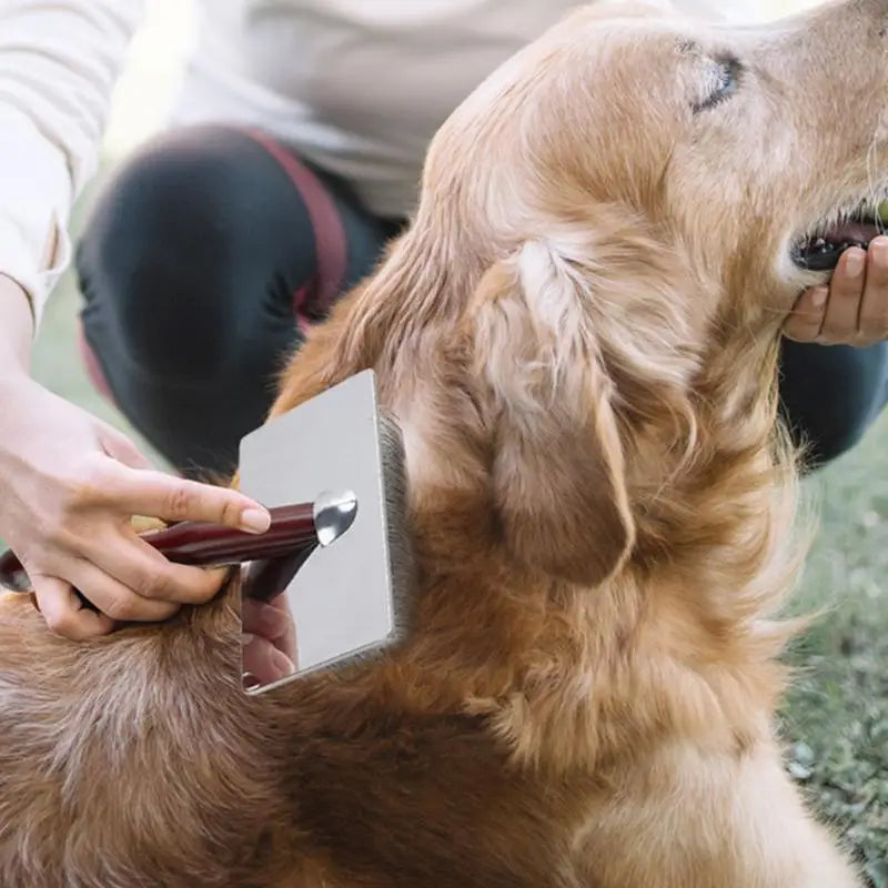
M 585 286 L 548 245 L 527 243 L 484 275 L 471 317 L 506 544 L 528 566 L 594 586 L 625 561 L 634 525 Z

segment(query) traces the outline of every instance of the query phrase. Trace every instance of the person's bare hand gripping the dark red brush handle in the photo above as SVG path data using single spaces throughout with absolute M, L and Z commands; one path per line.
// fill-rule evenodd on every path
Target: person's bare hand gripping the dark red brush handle
M 268 529 L 258 503 L 152 470 L 125 435 L 24 373 L 0 377 L 0 538 L 59 635 L 83 639 L 119 622 L 165 619 L 219 591 L 221 572 L 172 564 L 139 538 L 133 515 Z

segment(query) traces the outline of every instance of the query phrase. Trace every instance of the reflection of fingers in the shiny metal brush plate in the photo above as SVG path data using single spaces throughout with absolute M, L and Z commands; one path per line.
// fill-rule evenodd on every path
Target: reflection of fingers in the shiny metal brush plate
M 259 685 L 269 685 L 296 669 L 296 626 L 286 603 L 279 595 L 268 604 L 244 598 L 243 670 Z M 252 683 L 251 683 L 252 684 Z

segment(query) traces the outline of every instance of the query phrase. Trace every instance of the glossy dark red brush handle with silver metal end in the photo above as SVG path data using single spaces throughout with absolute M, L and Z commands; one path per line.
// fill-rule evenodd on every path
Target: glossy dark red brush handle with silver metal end
M 352 526 L 357 497 L 351 491 L 322 493 L 313 503 L 269 512 L 271 526 L 264 534 L 184 521 L 162 531 L 147 531 L 140 538 L 176 564 L 222 567 L 252 562 L 244 596 L 269 601 L 284 591 L 312 552 L 335 543 Z M 0 555 L 0 585 L 12 592 L 31 592 L 28 574 L 12 551 Z

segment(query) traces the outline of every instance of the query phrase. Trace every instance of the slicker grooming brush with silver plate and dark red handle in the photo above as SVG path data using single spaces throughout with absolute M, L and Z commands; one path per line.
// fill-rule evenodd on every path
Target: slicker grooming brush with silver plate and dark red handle
M 285 593 L 300 663 L 284 682 L 401 637 L 413 582 L 404 448 L 380 413 L 372 370 L 244 437 L 240 482 L 271 512 L 264 534 L 180 522 L 141 538 L 179 564 L 245 563 L 244 597 Z M 0 585 L 31 592 L 12 552 L 0 555 Z

